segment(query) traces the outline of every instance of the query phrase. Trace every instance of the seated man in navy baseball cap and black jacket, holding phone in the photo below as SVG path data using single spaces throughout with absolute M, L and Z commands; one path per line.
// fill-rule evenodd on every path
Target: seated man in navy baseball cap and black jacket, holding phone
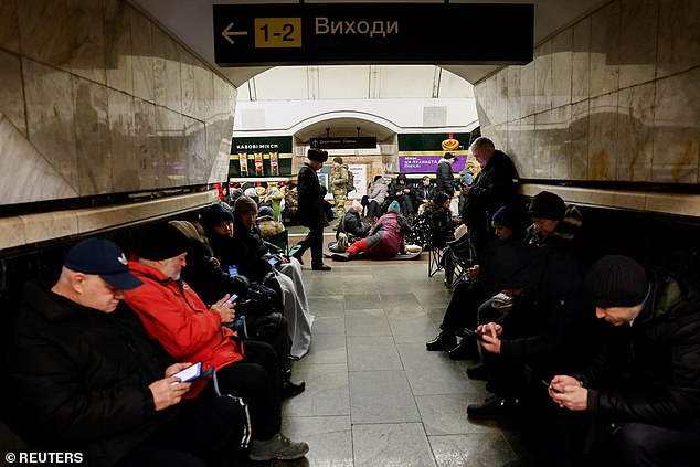
M 7 369 L 12 427 L 92 466 L 233 465 L 247 444 L 243 406 L 183 400 L 191 383 L 173 374 L 190 363 L 173 364 L 132 312 L 115 312 L 123 290 L 141 286 L 126 264 L 117 245 L 88 238 L 53 287 L 25 285 Z

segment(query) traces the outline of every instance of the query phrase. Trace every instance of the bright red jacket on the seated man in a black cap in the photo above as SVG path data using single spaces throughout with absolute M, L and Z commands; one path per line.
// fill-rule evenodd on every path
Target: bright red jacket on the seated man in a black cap
M 129 270 L 144 282 L 125 290 L 124 300 L 139 316 L 148 335 L 158 339 L 180 362 L 202 362 L 202 371 L 216 370 L 243 359 L 243 348 L 232 338 L 235 332 L 221 326 L 221 316 L 206 309 L 200 297 L 182 282 L 180 285 L 155 267 L 131 257 Z M 187 397 L 197 396 L 205 379 L 192 383 Z

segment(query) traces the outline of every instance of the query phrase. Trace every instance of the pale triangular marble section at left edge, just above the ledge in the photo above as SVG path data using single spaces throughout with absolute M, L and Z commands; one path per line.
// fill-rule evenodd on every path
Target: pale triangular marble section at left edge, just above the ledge
M 0 155 L 2 155 L 0 204 L 78 195 L 66 179 L 1 113 Z

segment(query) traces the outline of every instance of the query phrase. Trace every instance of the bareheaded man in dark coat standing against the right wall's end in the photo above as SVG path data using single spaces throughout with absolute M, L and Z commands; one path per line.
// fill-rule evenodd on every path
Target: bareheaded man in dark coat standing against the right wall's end
M 481 171 L 469 188 L 466 219 L 463 221 L 469 227 L 469 237 L 478 255 L 490 237 L 489 221 L 494 213 L 502 205 L 517 202 L 518 171 L 510 157 L 496 150 L 494 141 L 488 138 L 475 139 L 469 151 L 481 166 Z

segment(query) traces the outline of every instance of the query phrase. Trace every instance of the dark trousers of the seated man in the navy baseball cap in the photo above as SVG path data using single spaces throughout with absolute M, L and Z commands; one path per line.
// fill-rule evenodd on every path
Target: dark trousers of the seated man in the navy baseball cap
M 245 408 L 229 397 L 184 400 L 172 423 L 115 467 L 234 465 L 243 454 L 245 427 Z

